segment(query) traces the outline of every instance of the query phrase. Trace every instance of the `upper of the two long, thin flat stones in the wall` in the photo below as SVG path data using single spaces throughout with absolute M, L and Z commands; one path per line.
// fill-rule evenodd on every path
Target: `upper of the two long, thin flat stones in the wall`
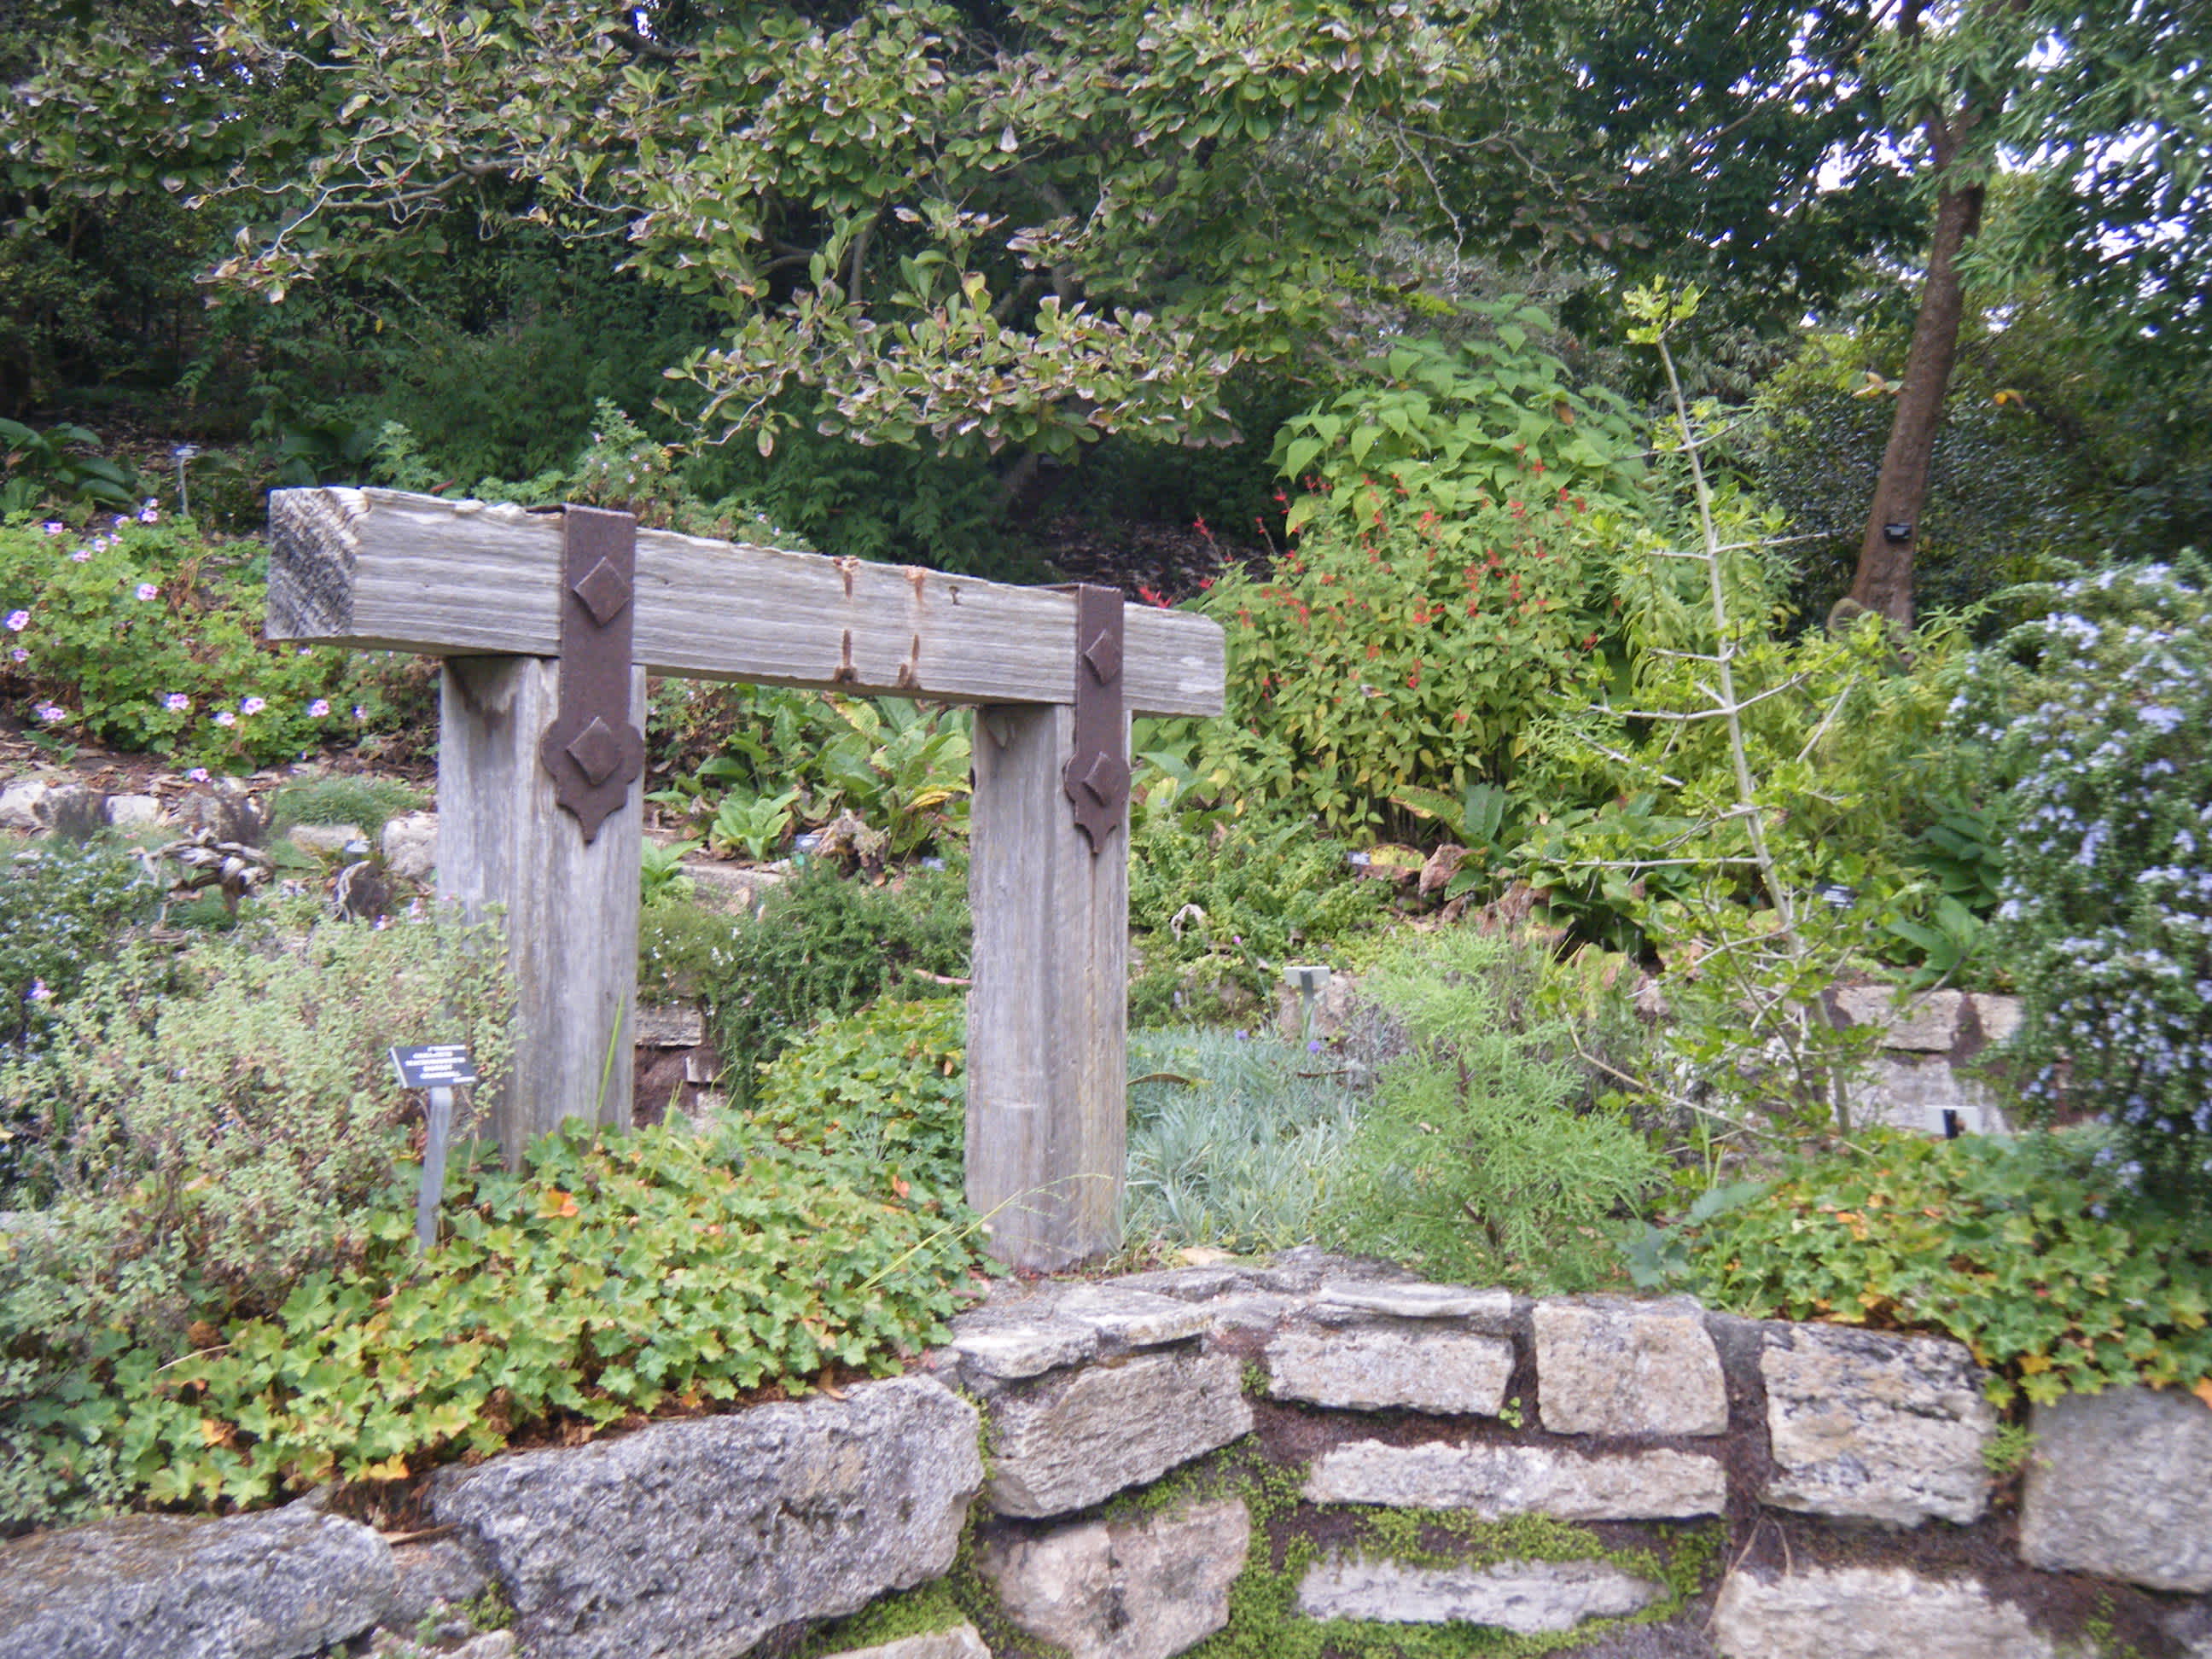
M 1677 1520 L 1719 1515 L 1728 1506 L 1728 1471 L 1699 1451 L 1579 1453 L 1354 1440 L 1314 1462 L 1305 1498 L 1314 1504 L 1471 1509 L 1482 1520 Z

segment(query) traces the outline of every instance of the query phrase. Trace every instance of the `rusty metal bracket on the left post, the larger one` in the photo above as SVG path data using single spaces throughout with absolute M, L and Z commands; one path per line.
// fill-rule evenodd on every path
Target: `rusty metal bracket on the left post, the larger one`
M 630 633 L 637 619 L 637 520 L 597 507 L 562 515 L 560 714 L 538 743 L 553 799 L 597 841 L 599 825 L 646 770 L 630 726 Z

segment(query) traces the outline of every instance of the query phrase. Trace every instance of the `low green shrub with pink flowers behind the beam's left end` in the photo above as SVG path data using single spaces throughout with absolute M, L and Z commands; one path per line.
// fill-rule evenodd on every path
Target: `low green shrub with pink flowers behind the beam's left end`
M 150 504 L 0 524 L 0 697 L 44 732 L 232 770 L 358 730 L 378 710 L 345 653 L 261 639 L 263 560 Z

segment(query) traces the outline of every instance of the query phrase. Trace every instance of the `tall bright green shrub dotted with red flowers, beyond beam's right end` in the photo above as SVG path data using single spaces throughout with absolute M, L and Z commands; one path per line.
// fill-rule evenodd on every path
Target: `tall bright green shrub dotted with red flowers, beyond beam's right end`
M 1511 779 L 1531 714 L 1613 677 L 1639 434 L 1500 319 L 1498 341 L 1396 345 L 1283 427 L 1298 546 L 1199 606 L 1228 630 L 1228 719 L 1201 741 L 1237 790 L 1371 830 L 1407 785 Z

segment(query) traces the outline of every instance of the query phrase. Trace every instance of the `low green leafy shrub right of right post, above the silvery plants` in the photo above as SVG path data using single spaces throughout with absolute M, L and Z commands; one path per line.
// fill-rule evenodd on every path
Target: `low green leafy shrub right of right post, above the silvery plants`
M 1141 803 L 1128 858 L 1130 947 L 1141 962 L 1130 1024 L 1214 1018 L 1232 987 L 1267 1006 L 1287 962 L 1371 927 L 1389 894 L 1310 818 L 1256 803 L 1234 816 L 1181 812 L 1172 799 Z

